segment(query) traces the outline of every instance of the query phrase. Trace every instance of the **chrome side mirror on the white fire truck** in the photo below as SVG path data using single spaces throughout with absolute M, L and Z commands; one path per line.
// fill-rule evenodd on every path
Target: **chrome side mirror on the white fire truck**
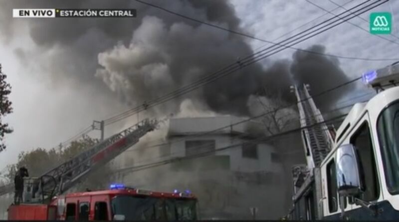
M 360 194 L 359 162 L 356 148 L 352 144 L 340 146 L 335 159 L 338 193 L 350 197 Z

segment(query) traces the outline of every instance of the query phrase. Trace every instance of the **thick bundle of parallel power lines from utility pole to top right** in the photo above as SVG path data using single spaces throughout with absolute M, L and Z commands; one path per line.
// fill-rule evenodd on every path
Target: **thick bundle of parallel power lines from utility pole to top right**
M 386 1 L 387 1 L 387 0 L 386 0 Z M 380 4 L 385 3 L 386 1 L 383 1 L 382 3 L 379 3 L 379 4 L 377 4 L 377 5 L 373 5 L 374 3 L 369 4 L 369 5 L 365 6 L 365 7 L 362 7 L 361 9 L 358 9 L 357 11 L 361 11 L 361 13 L 364 13 L 365 11 L 368 11 L 368 10 L 374 8 L 374 7 L 377 7 L 377 6 L 379 6 Z M 366 2 L 367 2 L 367 1 L 366 1 Z M 364 3 L 365 3 L 365 2 L 363 2 L 363 3 L 361 3 L 361 4 L 364 4 Z M 359 5 L 361 5 L 361 4 L 359 4 Z M 351 8 L 351 9 L 354 9 L 354 8 L 358 7 L 359 5 L 357 5 L 357 6 L 353 7 L 353 8 Z M 367 8 L 367 7 L 369 7 L 369 6 L 372 6 L 372 7 L 371 7 L 371 8 Z M 362 11 L 363 9 L 366 9 L 366 10 Z M 346 12 L 347 12 L 347 11 L 346 11 Z M 344 13 L 346 13 L 346 12 L 342 12 L 341 14 L 344 14 Z M 351 12 L 351 14 L 353 14 L 353 12 Z M 349 16 L 349 15 L 346 15 L 345 17 L 347 17 L 347 16 Z M 353 17 L 354 17 L 354 16 L 353 16 Z M 353 18 L 353 17 L 351 17 L 351 18 Z M 348 18 L 348 19 L 351 19 L 351 18 Z M 323 23 L 326 23 L 327 21 L 332 20 L 332 19 L 334 19 L 334 17 L 333 17 L 333 18 L 330 18 L 330 19 L 328 19 L 328 20 L 326 20 L 326 21 L 323 21 L 323 22 L 321 22 L 321 23 L 319 23 L 319 24 L 317 24 L 317 25 L 315 25 L 313 28 L 318 27 L 318 26 L 322 25 Z M 340 19 L 338 19 L 338 20 L 340 20 Z M 336 21 L 338 21 L 338 20 L 336 20 Z M 342 18 L 341 18 L 341 20 L 342 20 Z M 308 36 L 308 37 L 306 37 L 305 39 L 302 39 L 302 40 L 301 40 L 300 38 L 302 38 L 302 37 L 304 37 L 304 36 L 306 36 L 306 35 L 309 34 L 309 33 L 307 33 L 307 34 L 305 34 L 304 36 L 301 36 L 301 37 L 299 37 L 299 38 L 296 38 L 296 39 L 294 39 L 294 40 L 291 40 L 289 43 L 291 43 L 291 42 L 293 42 L 293 41 L 296 41 L 296 40 L 299 40 L 298 42 L 294 42 L 292 45 L 297 44 L 297 43 L 299 43 L 299 42 L 301 42 L 301 41 L 304 41 L 304 40 L 306 40 L 306 39 L 308 39 L 308 38 L 310 38 L 310 37 L 313 37 L 313 36 L 315 36 L 315 35 L 317 35 L 317 34 L 320 34 L 320 33 L 324 32 L 324 31 L 326 31 L 326 30 L 331 29 L 332 27 L 335 27 L 335 26 L 337 26 L 337 25 L 339 25 L 339 24 L 345 22 L 345 20 L 344 20 L 344 21 L 342 21 L 342 22 L 339 22 L 339 23 L 337 23 L 337 24 L 334 24 L 336 21 L 333 21 L 333 22 L 331 22 L 331 23 L 329 23 L 329 24 L 327 24 L 327 25 L 324 25 L 322 28 L 325 28 L 325 27 L 327 27 L 327 26 L 329 26 L 329 25 L 331 25 L 331 24 L 333 24 L 333 26 L 327 27 L 327 28 L 325 28 L 325 29 L 322 29 L 322 28 L 321 28 L 321 29 L 322 29 L 321 31 L 319 31 L 319 32 L 317 32 L 317 33 L 315 33 L 315 34 L 313 34 L 313 35 L 311 35 L 311 36 Z M 302 34 L 302 33 L 304 33 L 304 32 L 307 32 L 308 30 L 311 30 L 311 29 L 313 29 L 313 28 L 306 29 L 305 31 L 302 31 L 301 33 L 298 33 L 298 34 L 296 34 L 296 35 L 294 35 L 294 36 L 292 36 L 292 37 L 290 37 L 290 38 L 288 38 L 288 39 L 286 39 L 286 40 L 283 40 L 283 41 L 279 42 L 278 45 L 281 45 L 281 43 L 283 43 L 283 42 L 285 42 L 285 41 L 287 41 L 287 40 L 289 40 L 289 39 L 291 39 L 291 38 L 294 38 L 294 37 L 296 37 L 297 35 L 300 35 L 300 34 Z M 319 29 L 320 29 L 320 28 L 319 28 Z M 283 47 L 287 48 L 287 47 L 289 47 L 289 46 L 283 46 Z M 272 47 L 268 47 L 268 48 L 266 48 L 266 49 L 263 49 L 263 50 L 261 50 L 260 52 L 266 51 L 267 49 L 270 49 L 270 48 L 272 48 Z M 194 90 L 194 89 L 197 89 L 197 88 L 199 88 L 201 85 L 207 84 L 207 83 L 209 83 L 209 82 L 211 82 L 211 81 L 215 81 L 215 80 L 217 80 L 217 79 L 220 78 L 220 77 L 223 77 L 223 76 L 225 76 L 225 75 L 227 75 L 227 74 L 230 74 L 230 73 L 232 73 L 232 72 L 234 72 L 234 71 L 236 71 L 236 70 L 238 70 L 238 69 L 241 69 L 241 68 L 243 68 L 243 67 L 245 67 L 245 66 L 248 66 L 248 65 L 250 65 L 250 64 L 253 64 L 254 62 L 257 62 L 257 61 L 259 61 L 259 60 L 261 60 L 261 59 L 264 59 L 264 58 L 266 58 L 266 57 L 268 57 L 268 56 L 270 56 L 270 55 L 273 55 L 273 54 L 275 54 L 275 53 L 277 53 L 277 52 L 279 52 L 279 51 L 281 51 L 281 50 L 284 50 L 285 48 L 280 49 L 280 50 L 279 50 L 278 48 L 271 49 L 271 50 L 269 50 L 268 52 L 271 52 L 272 50 L 275 50 L 275 49 L 278 50 L 278 51 L 272 52 L 271 54 L 267 54 L 268 52 L 265 52 L 265 53 L 262 53 L 262 54 L 260 54 L 260 55 L 258 55 L 258 56 L 256 56 L 256 57 L 247 56 L 245 59 L 241 60 L 241 64 L 238 64 L 238 65 L 237 65 L 236 63 L 230 64 L 230 65 L 228 65 L 227 67 L 222 68 L 222 69 L 220 69 L 220 70 L 218 70 L 218 71 L 216 71 L 216 72 L 214 72 L 214 73 L 212 73 L 212 74 L 210 74 L 210 75 L 207 75 L 207 76 L 205 76 L 205 77 L 202 77 L 202 78 L 200 78 L 199 80 L 197 80 L 197 81 L 195 81 L 195 82 L 193 82 L 193 83 L 191 83 L 191 84 L 189 84 L 189 85 L 186 85 L 186 86 L 184 86 L 184 87 L 181 87 L 180 89 L 177 89 L 177 90 L 175 90 L 175 91 L 173 91 L 173 92 L 171 92 L 171 93 L 169 93 L 169 94 L 166 94 L 166 95 L 164 95 L 164 96 L 158 97 L 158 98 L 156 98 L 156 99 L 150 101 L 149 104 L 147 104 L 147 107 L 146 107 L 146 108 L 149 108 L 149 107 L 152 107 L 152 106 L 161 104 L 161 103 L 163 103 L 163 102 L 169 101 L 169 100 L 171 100 L 171 99 L 174 99 L 174 98 L 177 97 L 177 96 L 180 96 L 180 95 L 182 95 L 182 94 L 184 94 L 184 93 L 187 93 L 187 92 L 190 92 L 190 91 L 192 91 L 192 90 Z M 260 53 L 260 52 L 256 52 L 256 53 L 254 53 L 254 54 L 258 54 L 258 53 Z M 259 58 L 259 57 L 260 57 L 260 58 Z M 228 71 L 228 72 L 226 72 L 226 71 Z M 224 73 L 223 73 L 223 72 L 224 72 Z M 128 110 L 128 111 L 125 111 L 125 112 L 123 112 L 123 113 L 121 113 L 121 114 L 119 114 L 119 115 L 117 115 L 117 116 L 114 116 L 114 117 L 111 117 L 111 118 L 105 120 L 106 125 L 115 123 L 115 122 L 117 122 L 117 121 L 119 121 L 119 120 L 122 120 L 122 119 L 124 119 L 124 118 L 126 118 L 126 117 L 129 117 L 129 116 L 131 116 L 131 115 L 133 115 L 133 114 L 135 114 L 135 113 L 137 113 L 137 112 L 140 112 L 140 111 L 142 111 L 142 110 L 145 110 L 146 108 L 143 109 L 141 106 L 138 106 L 138 107 L 136 107 L 136 108 L 130 109 L 130 110 Z

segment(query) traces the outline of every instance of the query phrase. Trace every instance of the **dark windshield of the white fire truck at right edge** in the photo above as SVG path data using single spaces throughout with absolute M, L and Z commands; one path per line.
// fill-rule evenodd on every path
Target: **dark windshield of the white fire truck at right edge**
M 399 194 L 399 101 L 380 114 L 377 128 L 387 188 Z

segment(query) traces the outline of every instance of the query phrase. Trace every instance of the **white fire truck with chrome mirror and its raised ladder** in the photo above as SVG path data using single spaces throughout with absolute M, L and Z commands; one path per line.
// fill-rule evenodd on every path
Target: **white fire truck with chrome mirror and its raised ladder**
M 307 164 L 293 170 L 285 219 L 399 219 L 399 62 L 362 80 L 377 94 L 352 107 L 335 137 L 307 86 L 293 87 Z

